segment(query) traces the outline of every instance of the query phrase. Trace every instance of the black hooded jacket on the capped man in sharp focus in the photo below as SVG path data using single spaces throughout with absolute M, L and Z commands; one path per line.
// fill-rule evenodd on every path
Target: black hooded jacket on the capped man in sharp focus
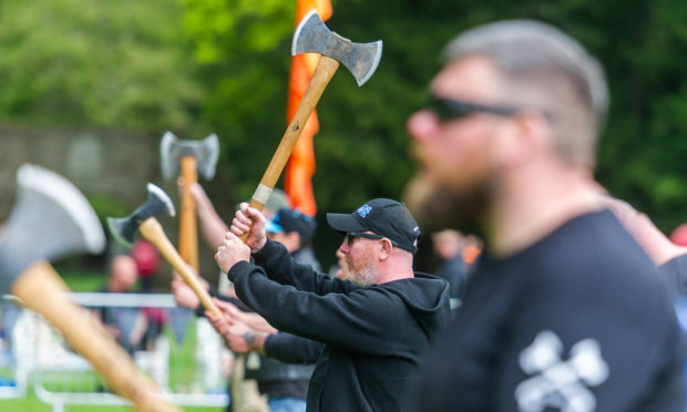
M 429 275 L 358 287 L 294 261 L 270 240 L 228 277 L 275 328 L 324 342 L 308 411 L 406 411 L 422 354 L 450 320 L 449 285 Z

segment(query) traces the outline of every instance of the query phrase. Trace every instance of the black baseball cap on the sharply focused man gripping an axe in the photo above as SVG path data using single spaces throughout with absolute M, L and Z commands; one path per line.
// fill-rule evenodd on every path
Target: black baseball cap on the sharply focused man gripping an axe
M 351 214 L 328 213 L 327 223 L 332 229 L 349 234 L 371 233 L 393 240 L 398 247 L 414 254 L 420 228 L 402 203 L 377 198 L 367 202 Z

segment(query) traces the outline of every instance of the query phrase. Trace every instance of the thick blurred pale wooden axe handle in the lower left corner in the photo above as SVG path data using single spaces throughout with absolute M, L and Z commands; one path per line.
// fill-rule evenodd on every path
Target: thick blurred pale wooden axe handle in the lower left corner
M 88 310 L 72 302 L 62 278 L 42 260 L 24 270 L 11 293 L 40 313 L 64 336 L 64 340 L 105 378 L 112 389 L 144 412 L 181 412 L 162 396 L 157 385 L 136 368 L 129 353 L 102 328 L 93 325 Z

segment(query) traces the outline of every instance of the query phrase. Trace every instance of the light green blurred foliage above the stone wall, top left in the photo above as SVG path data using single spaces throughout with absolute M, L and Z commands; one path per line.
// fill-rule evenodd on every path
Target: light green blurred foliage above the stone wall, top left
M 174 2 L 0 3 L 0 115 L 141 131 L 184 127 L 203 97 Z

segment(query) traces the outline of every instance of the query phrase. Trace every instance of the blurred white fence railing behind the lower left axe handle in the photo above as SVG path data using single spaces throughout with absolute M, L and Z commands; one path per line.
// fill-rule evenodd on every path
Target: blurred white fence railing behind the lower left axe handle
M 181 406 L 226 406 L 230 352 L 204 318 L 177 308 L 166 293 L 70 293 L 117 337 L 141 370 Z M 0 401 L 35 395 L 61 412 L 65 405 L 131 404 L 61 334 L 12 298 L 0 300 Z

